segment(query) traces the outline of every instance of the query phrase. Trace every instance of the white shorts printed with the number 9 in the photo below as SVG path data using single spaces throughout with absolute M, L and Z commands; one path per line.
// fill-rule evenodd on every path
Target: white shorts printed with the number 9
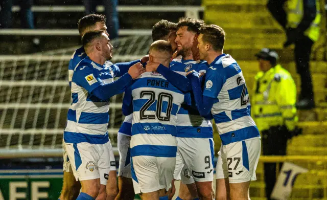
M 177 152 L 194 181 L 213 181 L 215 157 L 213 139 L 176 138 L 176 140 L 178 146 Z

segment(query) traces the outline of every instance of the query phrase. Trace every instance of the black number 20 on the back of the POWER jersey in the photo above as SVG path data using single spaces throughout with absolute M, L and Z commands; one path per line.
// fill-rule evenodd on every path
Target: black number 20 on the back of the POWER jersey
M 158 94 L 158 100 L 156 105 L 156 112 L 155 115 L 146 115 L 145 112 L 147 109 L 155 102 L 155 92 L 153 91 L 142 91 L 141 94 L 139 94 L 140 97 L 149 96 L 149 100 L 142 106 L 142 108 L 139 110 L 139 119 L 141 120 L 154 120 L 155 117 L 159 121 L 165 121 L 168 122 L 170 120 L 170 113 L 172 112 L 173 108 L 173 95 L 169 93 L 161 92 Z M 166 110 L 166 116 L 161 116 L 162 111 L 162 103 L 163 99 L 166 98 L 168 100 L 167 110 Z

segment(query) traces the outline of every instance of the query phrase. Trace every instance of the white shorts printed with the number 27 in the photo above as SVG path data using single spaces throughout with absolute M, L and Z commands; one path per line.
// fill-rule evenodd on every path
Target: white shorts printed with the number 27
M 255 181 L 260 151 L 259 137 L 221 145 L 218 152 L 216 179 L 228 178 L 229 183 Z

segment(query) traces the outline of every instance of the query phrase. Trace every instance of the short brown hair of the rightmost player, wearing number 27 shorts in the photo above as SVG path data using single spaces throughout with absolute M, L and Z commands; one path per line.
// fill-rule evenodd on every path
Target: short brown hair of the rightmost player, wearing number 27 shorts
M 217 25 L 205 25 L 201 27 L 202 40 L 210 43 L 215 51 L 222 51 L 225 43 L 225 31 Z

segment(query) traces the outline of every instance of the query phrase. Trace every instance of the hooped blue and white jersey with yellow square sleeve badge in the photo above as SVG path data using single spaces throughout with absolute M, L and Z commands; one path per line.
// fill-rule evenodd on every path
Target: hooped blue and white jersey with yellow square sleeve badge
M 101 83 L 112 82 L 117 74 L 119 69 L 111 62 L 100 65 L 88 57 L 75 67 L 71 88 L 72 105 L 64 130 L 66 143 L 104 144 L 109 141 L 109 100 L 103 101 L 91 95 L 91 92 Z

